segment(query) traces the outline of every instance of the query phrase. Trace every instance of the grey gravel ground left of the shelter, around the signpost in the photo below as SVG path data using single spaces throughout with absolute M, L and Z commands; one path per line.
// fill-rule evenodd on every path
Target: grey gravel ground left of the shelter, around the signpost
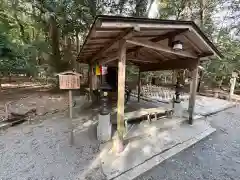
M 34 125 L 15 126 L 1 134 L 0 179 L 94 179 L 92 172 L 101 179 L 95 160 L 99 144 L 83 130 L 76 132 L 75 144 L 70 146 L 69 127 L 69 119 L 55 117 Z M 86 178 L 82 178 L 83 174 Z

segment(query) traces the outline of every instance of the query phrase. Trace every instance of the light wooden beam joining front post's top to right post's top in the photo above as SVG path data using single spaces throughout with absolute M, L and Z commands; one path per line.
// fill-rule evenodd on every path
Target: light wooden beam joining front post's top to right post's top
M 196 55 L 191 54 L 189 52 L 174 51 L 174 50 L 172 50 L 172 48 L 163 47 L 160 44 L 153 43 L 151 41 L 142 41 L 142 40 L 132 38 L 132 39 L 127 40 L 127 43 L 135 44 L 135 45 L 138 45 L 138 46 L 143 46 L 143 47 L 150 48 L 150 49 L 155 49 L 155 50 L 158 50 L 158 51 L 162 51 L 162 52 L 165 52 L 165 53 L 170 53 L 170 54 L 174 54 L 174 55 L 178 55 L 178 56 L 182 56 L 182 57 L 193 58 L 193 59 L 197 58 Z

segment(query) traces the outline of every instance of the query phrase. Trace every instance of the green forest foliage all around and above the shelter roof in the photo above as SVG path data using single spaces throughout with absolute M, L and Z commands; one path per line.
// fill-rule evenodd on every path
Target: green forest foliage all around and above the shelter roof
M 76 68 L 75 59 L 98 14 L 147 17 L 154 0 L 2 0 L 0 2 L 1 71 L 25 71 L 37 67 L 49 74 Z M 239 0 L 155 0 L 158 18 L 195 21 L 225 55 L 207 61 L 205 76 L 226 79 L 240 68 Z M 224 15 L 222 9 L 226 11 Z M 220 18 L 219 18 L 220 17 Z M 128 68 L 128 77 L 137 75 Z M 145 73 L 144 78 L 161 76 Z

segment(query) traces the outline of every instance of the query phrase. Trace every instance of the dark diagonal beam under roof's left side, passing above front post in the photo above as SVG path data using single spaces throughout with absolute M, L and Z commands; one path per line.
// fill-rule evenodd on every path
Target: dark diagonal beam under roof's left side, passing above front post
M 119 35 L 108 41 L 104 44 L 103 48 L 101 48 L 93 57 L 91 58 L 91 62 L 93 62 L 95 59 L 99 58 L 102 54 L 104 54 L 110 47 L 112 47 L 115 43 L 119 42 L 121 39 L 129 38 L 133 35 L 133 32 L 136 31 L 137 28 L 128 28 L 125 31 L 119 33 Z

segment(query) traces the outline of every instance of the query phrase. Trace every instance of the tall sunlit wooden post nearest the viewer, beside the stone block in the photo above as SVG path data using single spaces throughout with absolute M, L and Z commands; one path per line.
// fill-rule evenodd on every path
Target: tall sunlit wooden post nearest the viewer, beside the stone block
M 118 101 L 117 101 L 117 131 L 118 131 L 118 152 L 123 150 L 124 135 L 124 92 L 125 92 L 125 68 L 126 68 L 126 41 L 119 42 L 118 58 Z

